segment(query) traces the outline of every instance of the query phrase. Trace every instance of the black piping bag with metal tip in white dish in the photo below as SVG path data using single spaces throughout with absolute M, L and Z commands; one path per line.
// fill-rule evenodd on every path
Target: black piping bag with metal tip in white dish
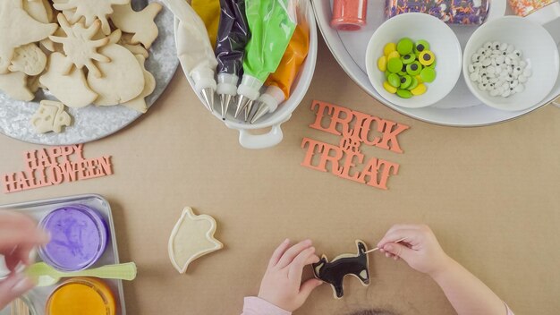
M 220 0 L 222 13 L 217 33 L 217 94 L 222 107 L 222 119 L 237 95 L 237 82 L 243 71 L 245 47 L 250 38 L 245 15 L 245 0 Z

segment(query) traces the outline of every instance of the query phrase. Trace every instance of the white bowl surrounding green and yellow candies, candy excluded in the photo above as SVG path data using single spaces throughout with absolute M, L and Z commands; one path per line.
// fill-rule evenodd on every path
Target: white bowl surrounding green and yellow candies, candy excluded
M 436 81 L 426 83 L 428 91 L 423 95 L 400 98 L 383 88 L 386 78 L 378 69 L 378 58 L 387 43 L 397 43 L 401 38 L 424 39 L 436 55 Z M 443 21 L 424 13 L 404 13 L 389 19 L 373 33 L 366 51 L 366 68 L 373 87 L 389 102 L 408 108 L 430 106 L 445 98 L 459 80 L 461 67 L 462 49 L 454 31 Z

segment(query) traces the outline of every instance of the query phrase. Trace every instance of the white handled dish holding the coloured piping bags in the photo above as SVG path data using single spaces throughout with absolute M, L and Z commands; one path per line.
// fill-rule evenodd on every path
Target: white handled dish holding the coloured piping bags
M 292 96 L 288 98 L 282 106 L 279 106 L 274 113 L 269 113 L 264 115 L 263 118 L 259 119 L 257 123 L 245 123 L 238 119 L 233 119 L 233 115 L 228 115 L 225 119 L 225 125 L 233 130 L 239 132 L 239 143 L 243 148 L 247 149 L 266 149 L 276 146 L 284 139 L 284 133 L 282 132 L 282 124 L 287 122 L 290 117 L 292 117 L 293 111 L 300 105 L 301 99 L 307 93 L 310 88 L 311 79 L 313 79 L 313 72 L 315 72 L 315 64 L 317 62 L 317 25 L 315 22 L 315 15 L 311 6 L 308 10 L 308 20 L 310 22 L 310 52 L 301 66 L 298 78 L 293 83 Z M 187 80 L 194 87 L 194 82 L 191 77 L 186 73 Z M 263 89 L 264 90 L 264 89 Z M 261 91 L 263 91 L 261 90 Z M 202 98 L 199 96 L 200 102 Z M 201 106 L 202 103 L 200 103 Z M 234 106 L 231 106 L 234 107 Z M 214 108 L 220 108 L 219 100 L 216 98 Z M 230 108 L 233 109 L 233 108 Z M 222 115 L 219 110 L 215 110 L 213 113 L 216 119 L 222 120 Z M 265 134 L 255 135 L 252 134 L 252 130 L 259 130 L 271 128 L 271 130 Z

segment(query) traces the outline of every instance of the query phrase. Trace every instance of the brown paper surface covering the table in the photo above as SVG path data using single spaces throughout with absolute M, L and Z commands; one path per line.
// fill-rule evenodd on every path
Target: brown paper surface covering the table
M 358 88 L 324 43 L 307 97 L 284 124 L 274 149 L 242 149 L 201 106 L 182 72 L 148 115 L 85 147 L 86 158 L 112 155 L 115 175 L 29 192 L 0 203 L 99 193 L 115 214 L 122 261 L 139 277 L 125 284 L 129 314 L 236 314 L 257 294 L 267 259 L 285 237 L 311 238 L 329 258 L 375 245 L 395 223 L 431 226 L 445 251 L 510 304 L 517 314 L 560 310 L 560 109 L 547 106 L 510 123 L 450 128 L 390 110 Z M 367 157 L 401 165 L 389 191 L 300 166 L 303 137 L 338 143 L 311 130 L 312 99 L 405 123 L 404 154 L 362 146 Z M 0 173 L 23 169 L 21 153 L 38 146 L 0 137 Z M 216 217 L 223 251 L 179 275 L 167 240 L 184 206 Z M 345 281 L 344 300 L 324 285 L 296 314 L 344 314 L 386 307 L 403 314 L 453 314 L 428 277 L 374 254 L 372 284 Z M 308 273 L 309 276 L 309 273 Z

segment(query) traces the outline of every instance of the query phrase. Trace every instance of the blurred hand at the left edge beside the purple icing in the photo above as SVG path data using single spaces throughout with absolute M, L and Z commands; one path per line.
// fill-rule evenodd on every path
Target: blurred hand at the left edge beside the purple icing
M 29 265 L 30 251 L 47 242 L 48 235 L 38 230 L 30 217 L 0 211 L 0 254 L 11 271 L 9 277 L 0 280 L 0 310 L 35 286 L 29 278 L 15 274 L 15 268 L 20 263 Z

